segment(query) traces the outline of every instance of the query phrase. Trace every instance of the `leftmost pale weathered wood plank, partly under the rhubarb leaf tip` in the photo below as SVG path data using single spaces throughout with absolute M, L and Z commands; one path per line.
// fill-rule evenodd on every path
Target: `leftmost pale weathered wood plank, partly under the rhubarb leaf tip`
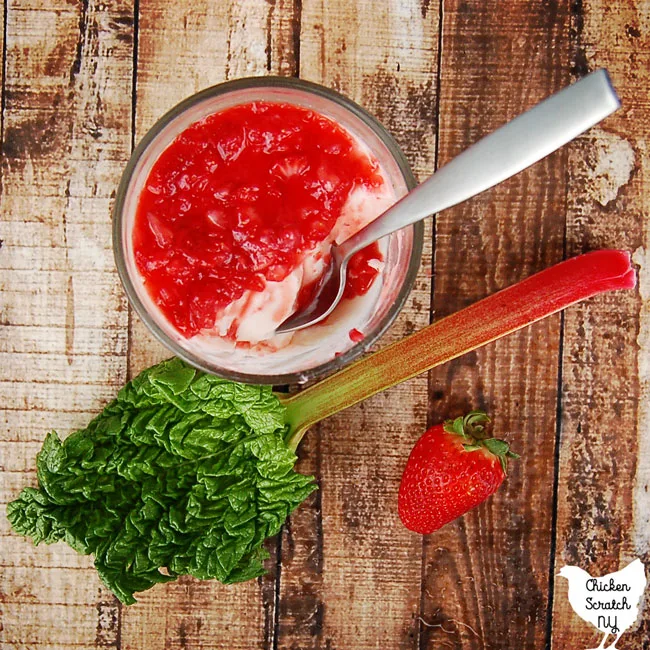
M 111 334 L 126 328 L 126 301 L 104 251 L 130 148 L 133 22 L 128 0 L 5 6 L 3 504 L 35 483 L 36 441 L 87 422 L 126 378 L 124 337 Z M 0 645 L 114 647 L 117 601 L 91 558 L 36 550 L 2 515 Z

